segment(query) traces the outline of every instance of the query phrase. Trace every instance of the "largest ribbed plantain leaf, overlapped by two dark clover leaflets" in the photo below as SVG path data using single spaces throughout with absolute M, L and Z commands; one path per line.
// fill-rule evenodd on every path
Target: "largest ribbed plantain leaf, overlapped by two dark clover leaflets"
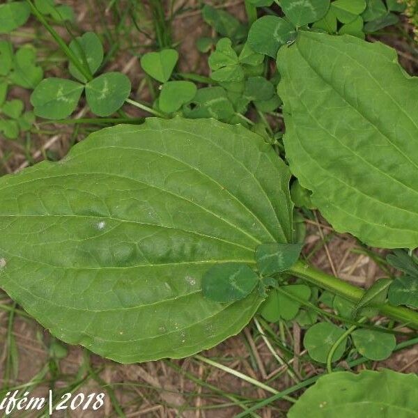
M 212 265 L 291 241 L 288 168 L 261 136 L 150 118 L 0 178 L 0 284 L 52 334 L 118 362 L 185 357 L 261 302 L 203 297 Z

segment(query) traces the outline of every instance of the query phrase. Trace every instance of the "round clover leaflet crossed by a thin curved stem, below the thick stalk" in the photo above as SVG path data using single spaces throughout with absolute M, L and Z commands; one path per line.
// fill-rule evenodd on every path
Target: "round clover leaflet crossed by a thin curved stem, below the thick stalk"
M 332 346 L 334 346 L 336 340 L 339 339 L 344 332 L 345 330 L 343 330 L 343 328 L 337 327 L 332 323 L 316 323 L 315 325 L 312 325 L 304 335 L 303 345 L 308 350 L 308 354 L 312 359 L 319 363 L 326 363 L 328 353 L 330 353 Z M 347 338 L 344 338 L 332 356 L 333 362 L 336 362 L 343 357 L 346 346 Z

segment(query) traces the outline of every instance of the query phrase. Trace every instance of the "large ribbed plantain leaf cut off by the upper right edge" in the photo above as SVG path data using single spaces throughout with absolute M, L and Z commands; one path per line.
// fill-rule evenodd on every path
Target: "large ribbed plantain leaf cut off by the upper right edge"
M 417 78 L 378 42 L 307 31 L 277 64 L 286 157 L 314 205 L 369 245 L 418 247 Z

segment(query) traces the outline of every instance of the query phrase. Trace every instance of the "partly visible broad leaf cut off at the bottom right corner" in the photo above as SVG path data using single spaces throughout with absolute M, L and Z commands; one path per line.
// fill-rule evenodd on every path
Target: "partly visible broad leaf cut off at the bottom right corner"
M 418 417 L 418 377 L 384 369 L 326 374 L 288 412 L 288 418 Z

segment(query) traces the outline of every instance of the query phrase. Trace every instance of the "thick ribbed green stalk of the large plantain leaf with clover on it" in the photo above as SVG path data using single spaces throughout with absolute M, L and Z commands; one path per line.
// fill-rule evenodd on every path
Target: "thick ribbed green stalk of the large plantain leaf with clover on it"
M 296 277 L 309 281 L 311 284 L 340 295 L 353 302 L 358 302 L 364 295 L 361 288 L 357 288 L 337 277 L 324 273 L 311 267 L 304 261 L 297 261 L 290 269 Z M 382 304 L 376 307 L 382 315 L 385 315 L 399 322 L 405 323 L 412 328 L 418 328 L 418 313 L 404 307 L 392 307 L 389 304 Z

